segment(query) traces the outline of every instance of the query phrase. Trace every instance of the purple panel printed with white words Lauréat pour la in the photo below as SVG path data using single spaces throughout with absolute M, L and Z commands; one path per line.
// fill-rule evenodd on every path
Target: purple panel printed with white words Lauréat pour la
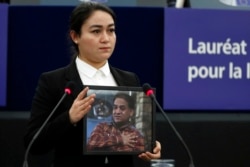
M 250 12 L 165 9 L 164 109 L 249 112 Z

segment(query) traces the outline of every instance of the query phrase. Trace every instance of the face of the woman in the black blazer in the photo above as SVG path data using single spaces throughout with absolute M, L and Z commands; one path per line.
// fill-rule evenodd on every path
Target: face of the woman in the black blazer
M 111 56 L 116 44 L 115 23 L 112 16 L 97 10 L 81 27 L 81 35 L 74 39 L 79 57 L 95 68 L 102 67 Z

